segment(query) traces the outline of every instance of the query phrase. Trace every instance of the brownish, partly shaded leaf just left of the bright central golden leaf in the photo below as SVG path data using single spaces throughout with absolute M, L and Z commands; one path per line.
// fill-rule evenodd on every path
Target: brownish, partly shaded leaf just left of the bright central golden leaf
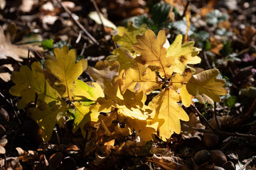
M 107 60 L 99 61 L 95 68 L 88 67 L 87 72 L 97 84 L 100 84 L 106 96 L 116 95 L 117 84 L 114 83 L 114 78 L 119 75 L 119 62 L 114 62 L 110 67 Z

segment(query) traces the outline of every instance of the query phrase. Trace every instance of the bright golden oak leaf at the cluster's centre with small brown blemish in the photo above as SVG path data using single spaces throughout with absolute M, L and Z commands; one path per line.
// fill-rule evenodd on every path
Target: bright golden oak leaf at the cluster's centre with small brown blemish
M 134 64 L 133 69 L 122 70 L 120 77 L 122 79 L 122 94 L 127 89 L 135 93 L 143 91 L 144 94 L 150 94 L 160 87 L 156 72 L 152 72 L 151 69 L 144 67 L 139 62 Z

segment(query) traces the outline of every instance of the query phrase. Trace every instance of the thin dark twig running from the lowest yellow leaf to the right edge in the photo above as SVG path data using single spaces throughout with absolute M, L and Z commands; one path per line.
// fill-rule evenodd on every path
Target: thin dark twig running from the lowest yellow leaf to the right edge
M 196 130 L 198 132 L 206 132 L 206 133 L 215 133 L 218 135 L 224 135 L 224 136 L 233 136 L 233 137 L 243 137 L 243 138 L 247 138 L 247 139 L 256 139 L 256 135 L 251 135 L 251 134 L 242 134 L 242 133 L 238 133 L 238 132 L 225 132 L 222 130 L 215 130 L 215 132 L 213 132 L 212 130 L 206 130 L 206 129 L 201 129 L 201 128 L 191 128 L 191 127 L 186 127 L 186 126 L 182 126 L 181 130 Z

